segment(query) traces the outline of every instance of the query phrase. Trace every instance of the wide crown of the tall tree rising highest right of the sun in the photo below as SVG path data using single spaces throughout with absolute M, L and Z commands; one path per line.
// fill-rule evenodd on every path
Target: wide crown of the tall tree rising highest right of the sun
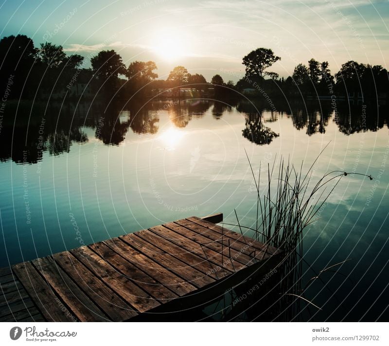
M 243 58 L 243 65 L 246 66 L 246 75 L 259 75 L 262 77 L 265 69 L 273 65 L 281 57 L 274 55 L 270 48 L 257 48 Z

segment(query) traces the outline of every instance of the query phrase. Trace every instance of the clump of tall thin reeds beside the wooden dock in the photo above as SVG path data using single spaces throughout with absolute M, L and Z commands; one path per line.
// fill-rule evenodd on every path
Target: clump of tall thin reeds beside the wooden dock
M 303 163 L 299 169 L 296 169 L 289 160 L 285 163 L 283 158 L 280 159 L 277 168 L 276 159 L 272 165 L 267 164 L 267 179 L 263 191 L 261 191 L 262 186 L 260 186 L 261 167 L 256 177 L 246 152 L 257 191 L 256 219 L 251 227 L 247 227 L 242 226 L 242 222 L 239 222 L 236 211 L 235 215 L 242 233 L 242 228 L 251 230 L 254 237 L 263 242 L 265 247 L 274 246 L 284 252 L 283 261 L 277 268 L 278 273 L 280 273 L 277 287 L 270 290 L 275 294 L 266 293 L 268 296 L 279 297 L 274 300 L 270 307 L 278 310 L 277 320 L 295 320 L 301 312 L 301 303 L 320 309 L 304 296 L 304 291 L 312 281 L 316 279 L 322 281 L 320 273 L 329 271 L 343 262 L 316 273 L 303 258 L 304 229 L 317 220 L 316 215 L 319 209 L 344 177 L 353 174 L 373 179 L 371 176 L 360 173 L 335 170 L 324 174 L 313 182 L 312 168 L 327 146 L 323 148 L 305 173 L 303 173 Z M 305 287 L 302 287 L 304 262 L 315 273 L 315 276 L 308 281 Z M 324 282 L 323 284 L 325 285 Z M 309 310 L 309 307 L 307 309 Z

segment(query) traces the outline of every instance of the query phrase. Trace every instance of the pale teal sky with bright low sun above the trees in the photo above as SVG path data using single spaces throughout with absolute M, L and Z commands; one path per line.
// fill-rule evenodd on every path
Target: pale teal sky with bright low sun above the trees
M 84 67 L 106 49 L 126 66 L 153 60 L 163 79 L 183 65 L 236 82 L 242 58 L 260 47 L 281 57 L 268 71 L 283 77 L 310 58 L 332 73 L 348 60 L 388 69 L 388 0 L 0 0 L 0 23 L 0 37 L 62 45 Z

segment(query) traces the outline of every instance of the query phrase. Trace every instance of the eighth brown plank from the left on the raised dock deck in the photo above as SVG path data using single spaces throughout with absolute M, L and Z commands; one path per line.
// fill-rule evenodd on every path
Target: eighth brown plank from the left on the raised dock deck
M 210 262 L 208 260 L 204 260 L 204 258 L 197 256 L 193 253 L 187 252 L 183 250 L 181 247 L 177 246 L 176 244 L 172 243 L 169 240 L 166 240 L 161 237 L 156 237 L 156 235 L 150 231 L 140 231 L 133 233 L 135 236 L 141 238 L 142 240 L 146 241 L 145 243 L 145 251 L 148 249 L 148 244 L 152 243 L 156 247 L 159 248 L 160 254 L 167 253 L 169 255 L 172 255 L 182 262 L 186 263 L 188 266 L 191 266 L 198 271 L 211 276 L 214 279 L 220 279 L 224 276 L 230 274 L 229 271 L 221 271 L 220 267 L 218 267 L 213 262 Z M 125 241 L 131 242 L 131 239 L 126 238 L 127 236 L 124 236 L 123 239 Z M 147 247 L 146 247 L 147 246 Z M 155 256 L 155 254 L 158 254 L 157 252 L 149 252 L 146 255 L 149 255 L 150 257 Z

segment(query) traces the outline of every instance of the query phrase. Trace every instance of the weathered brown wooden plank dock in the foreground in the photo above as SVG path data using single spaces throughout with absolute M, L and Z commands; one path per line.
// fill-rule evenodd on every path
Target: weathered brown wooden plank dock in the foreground
M 0 321 L 164 320 L 280 261 L 280 250 L 213 223 L 222 218 L 181 219 L 0 269 Z

